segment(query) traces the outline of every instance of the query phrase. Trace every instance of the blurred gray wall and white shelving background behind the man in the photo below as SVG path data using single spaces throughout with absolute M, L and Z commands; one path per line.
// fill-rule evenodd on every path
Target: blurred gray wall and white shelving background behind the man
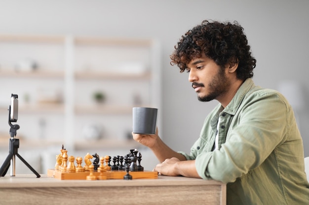
M 131 108 L 159 108 L 160 137 L 190 152 L 206 115 L 170 65 L 181 35 L 202 20 L 238 21 L 257 59 L 256 85 L 292 104 L 309 156 L 308 0 L 0 0 L 0 163 L 8 149 L 7 107 L 19 95 L 19 153 L 39 173 L 68 155 L 122 155 L 138 148 L 142 165 L 157 163 L 129 140 Z M 93 153 L 92 153 L 93 152 Z M 17 159 L 16 173 L 31 173 Z

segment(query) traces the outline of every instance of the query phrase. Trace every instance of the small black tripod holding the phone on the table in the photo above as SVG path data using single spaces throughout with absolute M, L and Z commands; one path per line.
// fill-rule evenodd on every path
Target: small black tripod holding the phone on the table
M 16 131 L 20 128 L 18 124 L 12 125 L 10 120 L 11 115 L 11 106 L 8 108 L 8 124 L 10 125 L 10 140 L 9 140 L 9 150 L 6 159 L 4 160 L 1 168 L 0 168 L 0 176 L 5 176 L 6 172 L 11 164 L 11 175 L 15 176 L 15 155 L 39 178 L 40 175 L 37 171 L 35 171 L 26 160 L 22 156 L 18 154 L 18 147 L 19 147 L 19 139 L 16 139 Z

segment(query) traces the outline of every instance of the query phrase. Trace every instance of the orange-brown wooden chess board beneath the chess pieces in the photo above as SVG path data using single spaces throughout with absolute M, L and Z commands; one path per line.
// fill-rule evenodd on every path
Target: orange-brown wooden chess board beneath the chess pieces
M 100 176 L 100 172 L 93 172 L 94 176 Z M 158 173 L 152 171 L 142 171 L 142 172 L 129 172 L 132 176 L 132 179 L 145 179 L 145 178 L 157 178 Z M 75 173 L 68 173 L 68 172 L 61 172 L 59 170 L 48 169 L 47 176 L 54 177 L 61 180 L 86 180 L 86 177 L 90 175 L 90 172 L 75 172 Z M 105 171 L 103 175 L 106 176 L 106 179 L 123 179 L 123 176 L 126 175 L 125 171 Z

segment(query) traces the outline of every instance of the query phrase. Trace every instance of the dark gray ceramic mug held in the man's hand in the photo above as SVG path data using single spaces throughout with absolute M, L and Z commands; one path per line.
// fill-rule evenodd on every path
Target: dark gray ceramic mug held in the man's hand
M 135 107 L 133 114 L 133 133 L 154 135 L 157 123 L 158 109 Z

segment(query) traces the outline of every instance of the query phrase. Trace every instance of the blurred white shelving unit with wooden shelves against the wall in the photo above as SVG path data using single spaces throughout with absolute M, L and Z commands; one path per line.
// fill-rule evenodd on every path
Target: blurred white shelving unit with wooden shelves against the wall
M 160 67 L 160 45 L 153 39 L 0 34 L 1 122 L 7 122 L 14 93 L 19 132 L 27 141 L 63 143 L 72 151 L 100 144 L 128 148 L 136 145 L 126 137 L 132 107 L 161 108 Z M 103 103 L 93 100 L 96 91 L 106 96 Z M 102 139 L 85 139 L 88 125 L 102 128 Z

